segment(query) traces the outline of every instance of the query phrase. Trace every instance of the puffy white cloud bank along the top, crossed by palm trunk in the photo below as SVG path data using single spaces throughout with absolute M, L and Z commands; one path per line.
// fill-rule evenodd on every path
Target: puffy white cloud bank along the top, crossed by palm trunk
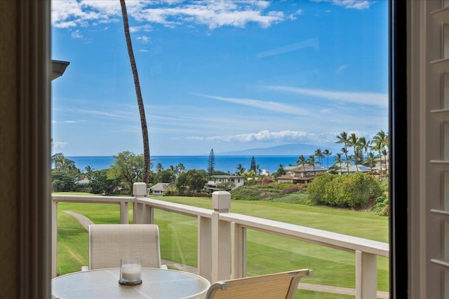
M 138 22 L 157 23 L 167 27 L 199 24 L 209 29 L 222 26 L 245 27 L 249 22 L 270 27 L 286 20 L 281 11 L 267 11 L 269 1 L 127 1 L 130 18 Z M 298 10 L 294 15 L 302 11 Z M 52 25 L 58 28 L 83 27 L 116 22 L 121 18 L 119 1 L 52 1 Z M 149 31 L 151 27 L 130 30 Z

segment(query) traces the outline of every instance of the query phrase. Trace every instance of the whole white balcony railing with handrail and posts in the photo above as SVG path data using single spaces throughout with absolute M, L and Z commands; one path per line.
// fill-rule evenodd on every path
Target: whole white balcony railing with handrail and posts
M 58 202 L 119 204 L 120 223 L 128 223 L 131 202 L 133 223 L 153 223 L 155 209 L 198 219 L 198 272 L 209 281 L 246 276 L 246 230 L 251 229 L 355 253 L 356 298 L 376 298 L 377 256 L 389 257 L 387 243 L 230 213 L 231 195 L 225 191 L 213 193 L 213 210 L 147 198 L 145 183 L 135 183 L 133 193 L 135 197 L 52 195 L 53 277 L 57 275 Z

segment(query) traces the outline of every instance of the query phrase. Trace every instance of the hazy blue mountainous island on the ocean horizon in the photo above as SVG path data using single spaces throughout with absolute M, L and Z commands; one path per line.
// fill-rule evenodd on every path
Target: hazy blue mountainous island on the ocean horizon
M 330 148 L 326 146 L 316 146 L 313 144 L 283 144 L 281 146 L 272 146 L 269 148 L 248 148 L 243 151 L 228 151 L 215 153 L 215 155 L 313 155 L 317 148 L 324 151 L 326 148 L 335 153 L 339 153 L 340 149 Z

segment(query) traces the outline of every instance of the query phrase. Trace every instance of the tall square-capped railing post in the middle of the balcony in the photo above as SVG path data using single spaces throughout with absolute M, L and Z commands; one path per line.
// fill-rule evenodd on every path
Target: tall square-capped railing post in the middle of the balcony
M 212 282 L 231 277 L 231 225 L 220 221 L 220 213 L 227 213 L 231 207 L 231 193 L 212 193 Z

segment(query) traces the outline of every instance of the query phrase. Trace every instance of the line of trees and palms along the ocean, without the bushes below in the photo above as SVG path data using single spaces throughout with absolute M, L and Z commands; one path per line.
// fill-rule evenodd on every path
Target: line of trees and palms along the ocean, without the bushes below
M 380 159 L 387 163 L 388 155 L 388 134 L 384 131 L 378 132 L 372 140 L 366 140 L 365 137 L 357 137 L 355 133 L 348 134 L 342 132 L 337 135 L 337 144 L 342 144 L 341 153 L 336 153 L 333 162 L 335 164 L 329 167 L 329 170 L 340 172 L 346 165 L 349 173 L 349 165 L 356 165 L 358 172 L 358 165 L 366 165 L 373 169 L 375 160 Z M 328 160 L 333 155 L 331 151 L 317 148 L 313 155 L 305 158 L 300 155 L 297 159 L 296 166 L 313 167 L 322 165 L 323 160 Z M 382 160 L 384 159 L 384 160 Z M 83 171 L 78 169 L 73 160 L 66 158 L 62 153 L 56 153 L 52 156 L 52 187 L 54 192 L 61 191 L 84 191 L 89 193 L 122 193 L 130 195 L 133 190 L 133 183 L 136 181 L 143 181 L 145 171 L 144 155 L 136 155 L 130 151 L 123 151 L 118 155 L 114 155 L 114 162 L 109 169 L 95 170 L 87 166 Z M 153 167 L 153 161 L 150 160 L 150 169 Z M 260 167 L 253 156 L 250 161 L 250 167 L 246 169 L 239 163 L 236 165 L 234 175 L 246 176 L 253 181 L 260 177 Z M 274 177 L 286 174 L 283 165 L 279 165 L 279 169 L 273 174 Z M 213 149 L 210 150 L 208 159 L 207 171 L 198 169 L 185 169 L 185 165 L 179 163 L 178 165 L 170 165 L 167 169 L 163 168 L 161 163 L 158 163 L 155 170 L 149 171 L 148 183 L 171 183 L 175 186 L 177 193 L 188 193 L 190 191 L 199 193 L 203 189 L 205 183 L 212 175 L 230 175 L 229 172 L 221 172 L 215 169 L 215 154 Z M 384 176 L 381 168 L 381 179 Z M 83 184 L 82 180 L 88 180 L 88 183 Z M 229 186 L 224 186 L 229 188 Z

